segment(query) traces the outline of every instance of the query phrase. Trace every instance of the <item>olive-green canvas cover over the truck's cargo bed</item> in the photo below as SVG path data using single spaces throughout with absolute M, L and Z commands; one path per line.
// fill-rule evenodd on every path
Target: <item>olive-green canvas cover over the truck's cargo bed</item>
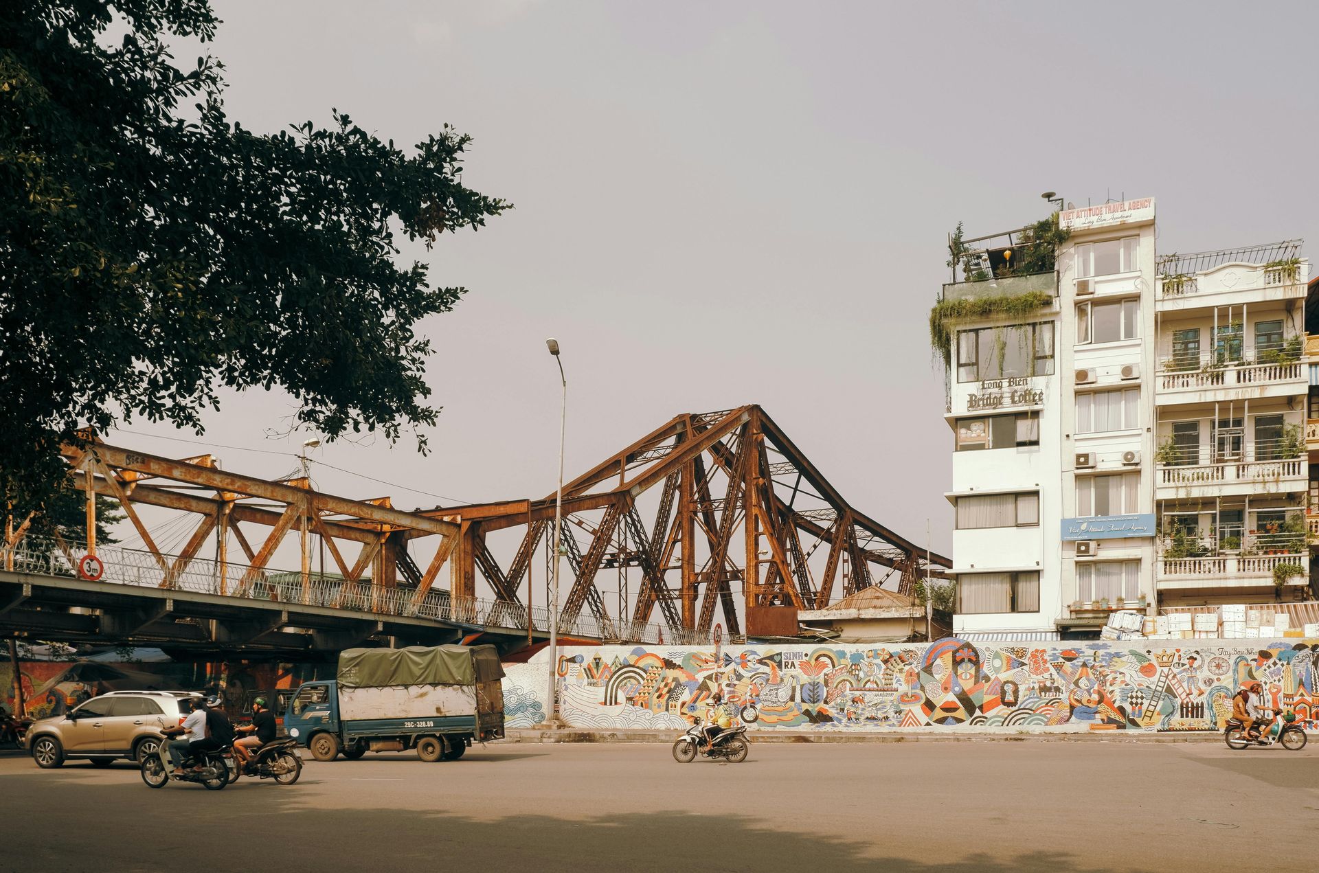
M 495 646 L 408 646 L 348 649 L 339 655 L 339 686 L 462 684 L 504 678 Z

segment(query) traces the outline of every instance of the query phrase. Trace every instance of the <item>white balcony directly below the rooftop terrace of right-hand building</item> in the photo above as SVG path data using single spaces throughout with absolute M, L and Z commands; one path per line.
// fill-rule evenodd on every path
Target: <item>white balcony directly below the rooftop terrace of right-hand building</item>
M 1275 349 L 1257 356 L 1254 361 L 1220 363 L 1208 355 L 1165 359 L 1154 375 L 1157 402 L 1212 404 L 1304 394 L 1306 364 L 1289 357 L 1289 353 Z

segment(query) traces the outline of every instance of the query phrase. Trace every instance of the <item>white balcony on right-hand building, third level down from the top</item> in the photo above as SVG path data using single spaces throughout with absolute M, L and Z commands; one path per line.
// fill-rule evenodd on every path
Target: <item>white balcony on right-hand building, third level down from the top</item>
M 1277 440 L 1287 442 L 1287 440 Z M 1310 466 L 1294 444 L 1246 443 L 1235 458 L 1210 447 L 1159 450 L 1158 500 L 1286 493 L 1310 488 Z

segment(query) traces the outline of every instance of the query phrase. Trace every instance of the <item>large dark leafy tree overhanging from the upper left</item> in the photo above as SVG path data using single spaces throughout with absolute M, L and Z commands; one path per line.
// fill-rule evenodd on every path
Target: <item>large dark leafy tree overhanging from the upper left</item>
M 224 386 L 282 386 L 330 439 L 435 422 L 415 324 L 466 289 L 397 265 L 396 233 L 429 249 L 510 208 L 462 183 L 468 136 L 445 125 L 405 153 L 338 111 L 243 128 L 223 66 L 169 50 L 214 37 L 207 0 L 4 9 L 0 498 L 50 500 L 80 426 L 200 433 Z

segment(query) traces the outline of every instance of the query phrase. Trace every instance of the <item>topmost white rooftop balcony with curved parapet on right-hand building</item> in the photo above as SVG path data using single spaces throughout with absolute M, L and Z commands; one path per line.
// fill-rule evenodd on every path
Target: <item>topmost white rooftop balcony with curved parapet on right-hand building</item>
M 1301 240 L 1285 240 L 1161 257 L 1155 268 L 1155 310 L 1177 313 L 1303 298 L 1310 262 L 1299 255 Z

